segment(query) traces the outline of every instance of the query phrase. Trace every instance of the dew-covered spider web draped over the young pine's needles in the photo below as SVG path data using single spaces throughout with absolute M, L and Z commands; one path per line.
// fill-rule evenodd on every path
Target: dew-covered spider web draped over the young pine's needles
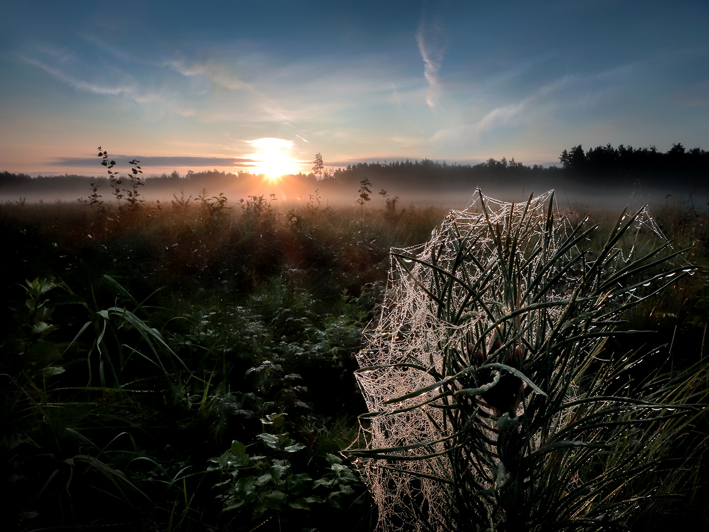
M 450 211 L 443 223 L 432 231 L 427 243 L 392 249 L 396 260 L 392 260 L 389 271 L 381 317 L 364 333 L 364 348 L 357 354 L 361 369 L 355 374 L 369 410 L 369 414 L 360 416 L 360 438 L 355 443 L 363 444 L 370 451 L 381 450 L 376 458 L 355 460 L 379 507 L 379 531 L 455 528 L 455 523 L 451 523 L 447 515 L 450 499 L 447 500 L 445 494 L 447 483 L 454 481 L 451 477 L 454 468 L 446 453 L 446 438 L 454 435 L 446 426 L 442 409 L 435 406 L 440 387 L 432 387 L 437 382 L 433 375 L 450 375 L 443 367 L 442 353 L 446 350 L 466 353 L 467 348 L 470 355 L 471 341 L 486 341 L 471 339 L 471 331 L 487 330 L 491 315 L 468 310 L 452 313 L 457 316 L 455 320 L 442 316 L 440 301 L 435 299 L 436 287 L 441 283 L 437 272 L 452 271 L 462 240 L 470 241 L 474 237 L 474 245 L 467 252 L 464 266 L 468 284 L 474 285 L 496 261 L 499 262 L 494 237 L 497 236 L 499 241 L 520 231 L 520 220 L 525 220 L 525 238 L 513 253 L 519 255 L 521 262 L 525 262 L 530 249 L 545 238 L 549 246 L 547 255 L 556 253 L 559 242 L 563 242 L 573 228 L 566 216 L 558 214 L 552 218 L 552 226 L 548 226 L 552 197 L 553 191 L 549 191 L 530 199 L 528 204 L 513 204 L 480 192 L 479 199 L 472 201 L 467 209 Z M 555 211 L 558 213 L 558 208 Z M 638 216 L 636 227 L 636 239 L 643 229 L 664 239 L 647 211 Z M 497 235 L 493 234 L 494 231 Z M 635 242 L 630 253 L 634 247 Z M 630 253 L 627 253 L 628 257 Z M 537 260 L 528 261 L 527 273 L 537 272 L 541 267 L 540 260 L 537 257 Z M 619 253 L 618 260 L 628 258 Z M 569 291 L 580 276 L 579 272 L 569 270 L 563 282 L 547 287 L 545 297 L 550 301 L 569 297 Z M 526 277 L 530 279 L 532 275 Z M 521 278 L 524 279 L 525 275 Z M 505 303 L 502 285 L 502 281 L 486 284 L 481 294 L 481 300 L 493 318 L 501 318 L 513 311 L 510 304 Z M 448 297 L 449 308 L 469 307 L 462 290 L 451 289 Z M 634 296 L 627 294 L 626 297 Z M 563 307 L 550 306 L 546 312 L 549 321 L 555 321 Z M 450 317 L 450 313 L 447 316 Z M 533 336 L 534 331 L 529 335 Z M 543 338 L 527 338 L 527 341 L 533 344 Z M 426 387 L 430 389 L 415 393 Z M 411 397 L 406 397 L 407 394 Z M 399 400 L 391 401 L 395 398 Z M 515 414 L 520 414 L 523 409 L 524 401 Z M 489 423 L 486 433 L 494 438 L 493 421 Z M 399 457 L 406 460 L 398 460 Z M 479 466 L 471 467 L 471 475 L 478 477 L 481 487 L 494 490 L 501 480 L 502 470 L 497 471 L 490 463 Z M 486 474 L 480 475 L 481 470 Z M 490 523 L 469 523 L 467 528 L 486 526 Z

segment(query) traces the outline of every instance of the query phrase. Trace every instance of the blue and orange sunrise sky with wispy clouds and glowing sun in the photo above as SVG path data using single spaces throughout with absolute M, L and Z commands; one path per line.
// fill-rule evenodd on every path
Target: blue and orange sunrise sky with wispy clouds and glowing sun
M 0 171 L 709 150 L 709 1 L 0 0 Z

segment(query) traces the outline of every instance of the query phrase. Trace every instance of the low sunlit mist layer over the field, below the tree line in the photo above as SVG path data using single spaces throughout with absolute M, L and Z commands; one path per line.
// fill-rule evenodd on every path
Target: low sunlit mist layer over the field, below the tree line
M 0 190 L 0 201 L 3 203 L 22 201 L 24 198 L 28 203 L 51 204 L 61 201 L 63 203 L 76 203 L 78 198 L 86 197 L 90 192 L 89 182 L 99 183 L 99 192 L 102 196 L 111 201 L 108 181 L 104 178 L 70 179 L 67 182 L 62 177 L 55 177 L 57 183 L 46 183 L 48 186 L 26 186 L 7 187 Z M 104 179 L 103 181 L 101 179 Z M 174 201 L 174 196 L 193 198 L 206 190 L 208 196 L 217 195 L 223 192 L 229 199 L 230 206 L 235 206 L 239 199 L 246 199 L 247 196 L 266 197 L 274 194 L 274 208 L 278 210 L 298 208 L 304 206 L 310 200 L 310 196 L 320 194 L 320 201 L 323 205 L 331 206 L 354 206 L 359 194 L 357 194 L 357 184 L 347 187 L 342 184 L 323 184 L 303 182 L 298 177 L 291 177 L 290 183 L 274 183 L 272 179 L 259 176 L 251 179 L 235 179 L 234 182 L 224 182 L 218 179 L 206 181 L 199 184 L 184 182 L 161 183 L 157 179 L 145 179 L 145 187 L 140 189 L 143 197 L 150 202 L 160 201 L 163 205 L 169 205 Z M 386 187 L 391 196 L 398 196 L 398 205 L 406 207 L 409 204 L 423 206 L 444 206 L 452 209 L 464 209 L 476 197 L 478 188 L 488 195 L 504 201 L 525 201 L 532 192 L 539 195 L 548 190 L 554 189 L 557 192 L 557 203 L 563 207 L 591 206 L 597 209 L 618 209 L 625 205 L 640 206 L 649 204 L 651 206 L 661 206 L 674 204 L 678 201 L 688 201 L 693 193 L 695 201 L 705 205 L 706 199 L 702 200 L 702 195 L 706 194 L 706 187 L 682 186 L 676 182 L 668 182 L 666 186 L 649 185 L 642 186 L 638 183 L 618 184 L 615 187 L 584 187 L 578 184 L 565 184 L 559 182 L 527 182 L 523 184 L 505 185 L 504 183 L 477 183 L 472 182 L 469 187 L 436 187 L 425 189 L 423 187 L 407 187 L 405 184 L 391 182 L 372 182 L 374 187 Z M 372 194 L 371 204 L 367 204 L 368 209 L 384 208 L 384 200 L 376 194 Z

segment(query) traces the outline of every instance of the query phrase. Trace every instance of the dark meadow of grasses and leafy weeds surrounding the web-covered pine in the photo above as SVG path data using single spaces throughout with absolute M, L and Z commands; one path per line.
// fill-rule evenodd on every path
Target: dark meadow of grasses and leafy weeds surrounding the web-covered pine
M 445 212 L 220 198 L 1 207 L 4 530 L 374 527 L 339 453 L 366 411 L 353 355 L 378 317 L 389 248 L 428 240 Z M 654 214 L 707 265 L 707 216 Z M 704 378 L 704 279 L 635 309 L 628 327 L 658 332 L 613 349 L 669 371 L 700 362 Z M 700 420 L 692 430 L 709 433 Z M 638 530 L 706 522 L 706 466 L 689 473 Z

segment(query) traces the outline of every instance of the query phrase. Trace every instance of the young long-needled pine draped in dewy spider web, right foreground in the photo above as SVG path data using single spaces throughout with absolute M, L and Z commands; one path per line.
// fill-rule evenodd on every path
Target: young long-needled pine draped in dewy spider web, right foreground
M 379 530 L 628 528 L 698 467 L 707 372 L 664 375 L 610 344 L 642 339 L 623 313 L 693 267 L 645 209 L 598 245 L 598 226 L 557 216 L 552 192 L 517 205 L 480 193 L 479 210 L 392 251 L 357 356 L 369 413 L 345 453 Z

